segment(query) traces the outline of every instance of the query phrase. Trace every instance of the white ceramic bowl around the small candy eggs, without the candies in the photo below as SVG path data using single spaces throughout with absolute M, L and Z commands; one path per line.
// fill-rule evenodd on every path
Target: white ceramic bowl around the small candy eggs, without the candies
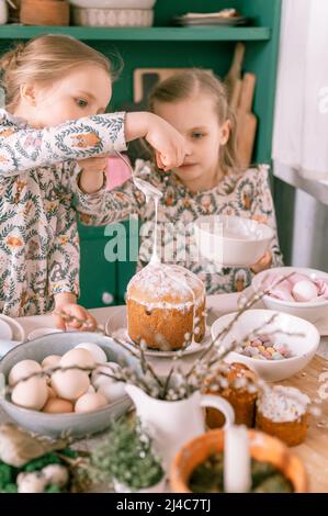
M 292 351 L 293 357 L 281 360 L 261 360 L 231 351 L 225 358 L 225 361 L 228 363 L 245 363 L 268 382 L 279 382 L 293 377 L 302 371 L 312 360 L 320 343 L 319 332 L 312 323 L 294 315 L 282 314 L 272 310 L 248 310 L 234 324 L 229 334 L 222 339 L 222 346 L 227 346 L 233 340 L 240 341 L 256 328 L 264 326 L 265 322 L 273 314 L 276 314 L 276 318 L 270 325 L 265 325 L 261 332 L 269 333 L 280 329 L 285 333 L 304 334 L 304 336 L 276 334 L 271 337 L 273 343 L 285 344 Z M 228 314 L 215 321 L 211 328 L 212 337 L 216 338 L 220 330 L 231 322 L 235 314 Z

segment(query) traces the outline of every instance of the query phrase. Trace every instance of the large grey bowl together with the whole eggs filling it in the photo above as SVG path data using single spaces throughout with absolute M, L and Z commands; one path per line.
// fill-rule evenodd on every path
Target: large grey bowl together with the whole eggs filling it
M 1 360 L 5 394 L 0 406 L 36 434 L 83 437 L 101 431 L 131 406 L 125 384 L 114 379 L 121 367 L 138 368 L 110 337 L 45 335 L 16 346 Z

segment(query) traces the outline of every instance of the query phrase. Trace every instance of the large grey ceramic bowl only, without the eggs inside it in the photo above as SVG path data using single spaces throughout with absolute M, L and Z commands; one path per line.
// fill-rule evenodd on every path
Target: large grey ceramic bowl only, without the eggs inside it
M 109 361 L 125 360 L 137 369 L 136 360 L 122 346 L 110 337 L 98 334 L 76 332 L 46 335 L 36 340 L 24 343 L 9 351 L 0 361 L 0 375 L 8 378 L 11 368 L 23 359 L 33 359 L 41 362 L 48 355 L 64 355 L 80 343 L 98 344 L 106 354 Z M 46 414 L 43 412 L 22 408 L 11 403 L 10 397 L 0 397 L 0 406 L 8 416 L 23 428 L 36 434 L 50 437 L 72 436 L 84 437 L 101 431 L 111 425 L 113 418 L 118 417 L 131 406 L 131 399 L 126 395 L 103 408 L 88 413 Z

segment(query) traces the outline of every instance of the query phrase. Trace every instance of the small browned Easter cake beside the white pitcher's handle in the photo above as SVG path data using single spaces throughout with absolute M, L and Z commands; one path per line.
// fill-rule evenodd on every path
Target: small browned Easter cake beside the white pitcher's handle
M 234 362 L 228 366 L 227 372 L 224 374 L 224 381 L 215 382 L 211 380 L 207 392 L 218 394 L 227 400 L 234 407 L 235 420 L 237 425 L 253 426 L 256 401 L 258 397 L 257 374 L 247 366 Z M 216 391 L 213 390 L 216 385 Z M 217 389 L 218 388 L 218 389 Z M 210 428 L 218 428 L 224 425 L 224 416 L 219 411 L 214 408 L 206 410 L 206 424 Z

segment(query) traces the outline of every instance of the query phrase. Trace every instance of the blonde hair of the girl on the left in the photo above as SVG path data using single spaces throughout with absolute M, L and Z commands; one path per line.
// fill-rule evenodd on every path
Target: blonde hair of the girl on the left
M 98 65 L 112 77 L 110 60 L 71 36 L 46 34 L 18 44 L 0 58 L 0 86 L 5 92 L 7 108 L 18 105 L 22 85 L 52 83 L 86 64 Z

